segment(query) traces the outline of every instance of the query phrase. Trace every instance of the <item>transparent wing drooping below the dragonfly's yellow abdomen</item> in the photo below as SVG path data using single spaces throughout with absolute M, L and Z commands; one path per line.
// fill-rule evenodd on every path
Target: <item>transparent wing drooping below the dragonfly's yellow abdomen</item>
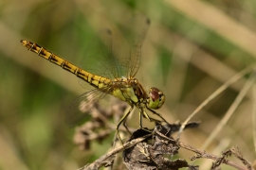
M 95 103 L 99 102 L 107 93 L 94 89 L 82 93 L 75 98 L 66 111 L 66 123 L 69 127 L 74 127 L 78 122 L 90 115 L 95 108 Z

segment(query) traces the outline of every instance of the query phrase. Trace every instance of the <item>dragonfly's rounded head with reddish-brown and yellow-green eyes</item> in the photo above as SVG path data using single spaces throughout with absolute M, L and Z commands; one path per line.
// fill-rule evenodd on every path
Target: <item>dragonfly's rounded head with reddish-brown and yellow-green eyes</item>
M 157 110 L 162 107 L 165 101 L 164 94 L 157 88 L 153 87 L 150 89 L 148 98 L 147 98 L 147 106 L 150 109 Z

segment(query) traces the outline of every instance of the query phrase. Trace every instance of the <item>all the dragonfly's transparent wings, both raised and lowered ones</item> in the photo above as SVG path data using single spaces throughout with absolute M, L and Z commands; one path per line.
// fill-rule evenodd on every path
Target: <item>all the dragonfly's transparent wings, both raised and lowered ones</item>
M 138 14 L 121 19 L 124 22 L 119 22 L 119 26 L 101 30 L 98 39 L 91 42 L 80 65 L 83 70 L 110 79 L 137 74 L 141 45 L 150 21 Z M 86 89 L 93 88 L 82 79 L 80 79 L 80 84 Z M 108 92 L 94 89 L 77 97 L 67 111 L 68 125 L 72 127 L 89 115 L 95 106 L 94 103 L 106 93 Z

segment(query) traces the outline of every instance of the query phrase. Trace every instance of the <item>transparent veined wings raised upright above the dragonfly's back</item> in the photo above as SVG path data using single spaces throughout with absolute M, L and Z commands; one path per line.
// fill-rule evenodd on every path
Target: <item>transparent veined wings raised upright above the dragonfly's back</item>
M 114 79 L 135 76 L 141 58 L 141 45 L 150 21 L 142 15 L 123 19 L 116 28 L 103 29 L 99 38 L 90 44 L 80 67 L 94 75 Z M 79 80 L 82 87 L 88 84 Z

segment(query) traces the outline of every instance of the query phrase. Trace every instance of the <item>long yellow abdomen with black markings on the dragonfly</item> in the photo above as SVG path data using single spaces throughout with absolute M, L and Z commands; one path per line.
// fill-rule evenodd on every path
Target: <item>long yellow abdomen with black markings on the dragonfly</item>
M 69 61 L 60 58 L 59 56 L 53 54 L 52 52 L 47 51 L 44 47 L 38 45 L 37 43 L 28 42 L 25 40 L 21 41 L 24 46 L 27 47 L 29 51 L 32 51 L 38 56 L 41 56 L 61 67 L 63 67 L 64 70 L 82 78 L 84 81 L 88 82 L 90 85 L 102 89 L 106 88 L 112 81 L 109 78 L 103 77 L 103 76 L 96 76 L 89 72 L 86 72 L 79 68 L 78 66 L 70 63 Z

